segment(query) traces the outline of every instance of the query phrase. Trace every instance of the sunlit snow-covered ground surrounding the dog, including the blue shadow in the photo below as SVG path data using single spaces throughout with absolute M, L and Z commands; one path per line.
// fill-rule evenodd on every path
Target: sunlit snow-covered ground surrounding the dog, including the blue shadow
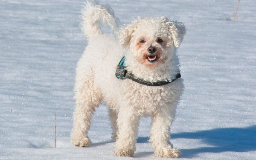
M 187 27 L 178 49 L 185 91 L 171 127 L 180 160 L 256 159 L 256 1 L 101 0 L 122 23 L 167 14 Z M 93 115 L 92 145 L 70 143 L 76 63 L 87 40 L 82 0 L 0 0 L 0 159 L 134 159 L 113 154 L 107 107 Z M 12 111 L 11 111 L 12 110 Z M 57 148 L 54 125 L 57 113 Z M 153 156 L 149 118 L 136 159 Z

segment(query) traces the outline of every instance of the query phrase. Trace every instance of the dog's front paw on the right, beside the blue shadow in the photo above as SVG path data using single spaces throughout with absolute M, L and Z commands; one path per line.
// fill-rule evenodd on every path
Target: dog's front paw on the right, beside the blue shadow
M 168 148 L 163 150 L 161 149 L 160 151 L 155 151 L 154 155 L 163 158 L 178 158 L 180 157 L 181 152 L 177 148 Z

